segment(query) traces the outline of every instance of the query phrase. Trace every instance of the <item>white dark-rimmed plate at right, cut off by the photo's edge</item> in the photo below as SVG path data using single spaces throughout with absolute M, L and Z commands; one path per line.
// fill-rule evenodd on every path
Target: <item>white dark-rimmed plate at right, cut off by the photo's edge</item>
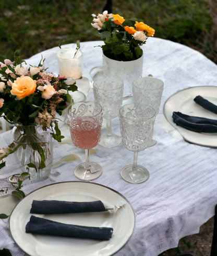
M 164 104 L 164 115 L 167 121 L 172 124 L 183 136 L 185 141 L 200 146 L 217 147 L 216 133 L 198 133 L 189 131 L 173 122 L 173 111 L 179 111 L 183 114 L 194 115 L 196 117 L 217 119 L 217 114 L 204 109 L 194 101 L 196 96 L 201 97 L 217 104 L 217 87 L 216 86 L 197 86 L 190 87 L 172 95 Z

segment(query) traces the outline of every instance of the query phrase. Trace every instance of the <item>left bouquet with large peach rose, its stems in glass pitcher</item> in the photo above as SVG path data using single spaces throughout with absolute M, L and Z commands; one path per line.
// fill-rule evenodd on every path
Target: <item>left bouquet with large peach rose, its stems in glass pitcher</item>
M 20 148 L 26 150 L 27 145 L 33 152 L 33 157 L 25 163 L 27 170 L 43 169 L 49 152 L 37 127 L 61 142 L 64 136 L 58 128 L 56 112 L 61 115 L 67 102 L 72 103 L 68 91 L 77 90 L 75 80 L 46 73 L 43 59 L 39 66 L 31 66 L 20 61 L 16 54 L 14 62 L 0 62 L 0 74 L 0 117 L 17 127 L 8 148 L 0 149 L 0 169 L 5 166 L 3 158 Z

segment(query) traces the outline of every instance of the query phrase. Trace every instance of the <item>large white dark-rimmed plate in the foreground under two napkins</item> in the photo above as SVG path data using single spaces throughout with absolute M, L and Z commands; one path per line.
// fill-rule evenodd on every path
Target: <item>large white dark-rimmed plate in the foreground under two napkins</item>
M 112 227 L 112 238 L 108 241 L 101 241 L 27 234 L 25 227 L 31 216 L 29 212 L 33 200 L 76 202 L 101 200 L 106 205 L 121 207 L 115 213 L 34 214 L 67 224 Z M 9 218 L 11 236 L 17 245 L 31 256 L 112 255 L 128 241 L 134 225 L 134 211 L 122 194 L 97 183 L 79 181 L 55 183 L 33 191 L 16 205 Z

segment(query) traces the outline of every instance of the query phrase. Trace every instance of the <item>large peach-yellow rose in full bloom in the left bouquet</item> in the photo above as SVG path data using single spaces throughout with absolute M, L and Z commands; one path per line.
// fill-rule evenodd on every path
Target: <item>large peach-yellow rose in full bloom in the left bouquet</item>
M 16 95 L 20 100 L 33 94 L 36 88 L 36 81 L 33 80 L 30 76 L 21 76 L 18 77 L 15 82 L 12 84 L 12 89 L 10 93 Z

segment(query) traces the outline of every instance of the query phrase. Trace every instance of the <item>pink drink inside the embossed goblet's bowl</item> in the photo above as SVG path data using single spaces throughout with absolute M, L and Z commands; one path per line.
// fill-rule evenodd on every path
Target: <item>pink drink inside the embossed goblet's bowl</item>
M 93 117 L 74 119 L 70 125 L 73 144 L 81 149 L 91 149 L 98 145 L 101 137 L 99 120 Z

